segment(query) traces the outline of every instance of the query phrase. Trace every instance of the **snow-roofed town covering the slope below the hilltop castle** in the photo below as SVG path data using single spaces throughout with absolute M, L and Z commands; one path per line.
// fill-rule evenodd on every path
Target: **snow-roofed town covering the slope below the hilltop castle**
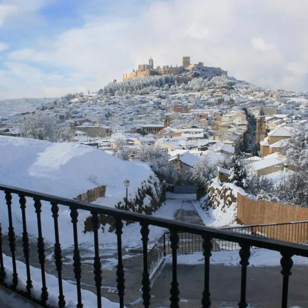
M 152 66 L 152 59 L 149 62 Z M 137 72 L 152 69 L 144 66 Z M 176 73 L 185 68 L 190 81 L 180 83 L 177 80 L 183 72 Z M 307 122 L 307 93 L 261 89 L 229 78 L 222 70 L 212 70 L 209 77 L 203 63 L 190 64 L 189 57 L 183 57 L 178 69 L 171 83 L 144 87 L 146 94 L 133 90 L 120 95 L 108 92 L 106 86 L 98 92 L 66 95 L 33 112 L 54 115 L 69 125 L 72 142 L 95 146 L 110 155 L 117 155 L 121 141 L 130 161 L 140 160 L 142 145 L 158 146 L 168 153 L 170 165 L 176 166 L 175 182 L 181 184 L 187 182 L 186 171 L 204 155 L 218 161 L 244 152 L 258 175 L 287 169 L 283 148 L 290 131 Z M 151 77 L 134 80 L 146 78 Z M 122 84 L 126 82 L 125 78 Z M 0 134 L 20 136 L 18 123 L 27 113 L 1 118 Z

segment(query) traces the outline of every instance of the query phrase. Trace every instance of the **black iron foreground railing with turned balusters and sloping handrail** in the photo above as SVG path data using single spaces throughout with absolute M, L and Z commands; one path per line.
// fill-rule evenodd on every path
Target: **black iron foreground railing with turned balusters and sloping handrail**
M 115 219 L 115 229 L 117 235 L 118 242 L 118 266 L 117 272 L 115 274 L 115 278 L 117 279 L 117 288 L 119 294 L 120 307 L 124 307 L 124 291 L 125 291 L 125 278 L 124 278 L 124 269 L 123 269 L 123 260 L 122 260 L 122 221 L 129 220 L 134 222 L 139 222 L 141 225 L 141 241 L 143 246 L 143 274 L 142 274 L 142 298 L 143 305 L 145 307 L 149 307 L 150 305 L 150 279 L 149 279 L 149 271 L 148 271 L 148 235 L 149 235 L 149 225 L 155 225 L 162 228 L 167 228 L 170 230 L 170 248 L 172 254 L 172 281 L 170 288 L 170 307 L 176 308 L 179 307 L 179 283 L 177 277 L 177 252 L 179 247 L 179 233 L 189 233 L 194 234 L 202 238 L 202 251 L 204 255 L 204 289 L 201 293 L 200 291 L 200 302 L 202 307 L 210 307 L 210 293 L 209 293 L 209 258 L 211 255 L 211 251 L 213 248 L 213 239 L 229 241 L 237 243 L 240 246 L 239 256 L 240 256 L 240 265 L 241 265 L 241 287 L 240 287 L 240 302 L 239 307 L 246 307 L 246 272 L 249 256 L 250 256 L 250 248 L 252 246 L 261 247 L 265 249 L 270 249 L 273 251 L 278 251 L 281 254 L 281 274 L 283 276 L 282 282 L 282 303 L 281 307 L 287 307 L 287 297 L 288 297 L 288 281 L 289 276 L 291 275 L 291 268 L 293 266 L 292 256 L 299 255 L 308 257 L 308 247 L 305 245 L 282 242 L 278 240 L 274 240 L 271 238 L 262 238 L 249 234 L 240 234 L 234 233 L 229 230 L 210 228 L 205 226 L 193 225 L 184 222 L 176 222 L 168 219 L 157 218 L 153 216 L 131 213 L 129 211 L 118 210 L 115 208 L 109 208 L 101 205 L 89 204 L 81 201 L 74 201 L 65 198 L 54 197 L 50 195 L 45 195 L 35 191 L 29 191 L 25 189 L 15 188 L 6 185 L 0 185 L 0 190 L 3 190 L 5 193 L 6 206 L 8 208 L 8 220 L 9 220 L 9 246 L 12 257 L 12 265 L 13 265 L 13 279 L 12 284 L 8 285 L 5 281 L 5 277 L 7 275 L 6 270 L 4 268 L 4 260 L 2 254 L 2 230 L 0 228 L 0 284 L 11 288 L 14 292 L 20 293 L 21 295 L 31 299 L 32 301 L 36 301 L 43 306 L 47 306 L 48 299 L 48 290 L 46 286 L 45 280 L 45 245 L 42 234 L 42 222 L 41 222 L 41 211 L 42 211 L 42 201 L 46 201 L 50 203 L 50 215 L 52 215 L 54 219 L 54 236 L 55 236 L 55 245 L 54 245 L 54 256 L 55 256 L 55 267 L 58 274 L 59 279 L 59 307 L 65 306 L 65 294 L 63 292 L 62 286 L 62 252 L 61 252 L 61 244 L 59 241 L 59 228 L 61 226 L 58 225 L 57 219 L 59 216 L 59 205 L 67 206 L 70 210 L 71 214 L 71 223 L 73 225 L 73 242 L 74 242 L 74 253 L 73 253 L 73 270 L 75 274 L 76 280 L 76 293 L 78 295 L 78 304 L 76 305 L 78 308 L 83 307 L 82 303 L 82 293 L 81 293 L 81 273 L 82 273 L 82 265 L 81 265 L 81 257 L 79 250 L 79 242 L 78 242 L 78 210 L 83 209 L 89 211 L 92 216 L 93 223 L 93 237 L 94 237 L 94 261 L 93 261 L 93 280 L 95 281 L 95 285 L 97 288 L 97 306 L 101 308 L 101 282 L 102 282 L 102 272 L 101 272 L 101 260 L 99 254 L 99 214 L 104 214 L 111 216 Z M 14 226 L 13 226 L 13 216 L 12 216 L 12 194 L 18 195 L 20 197 L 20 205 L 22 210 L 22 224 L 23 224 L 23 248 L 24 248 L 24 256 L 27 268 L 27 292 L 20 291 L 18 288 L 18 279 L 17 279 L 17 269 L 16 269 L 16 238 L 14 234 Z M 29 240 L 27 233 L 27 222 L 26 215 L 24 215 L 24 211 L 26 209 L 26 202 L 29 199 L 34 200 L 35 212 L 37 216 L 37 230 L 38 230 L 38 238 L 37 238 L 37 248 L 38 248 L 38 259 L 41 264 L 41 273 L 42 273 L 42 292 L 40 299 L 35 299 L 32 297 L 32 283 L 31 283 L 31 271 L 30 265 L 28 262 L 29 258 Z M 0 206 L 4 206 L 5 204 L 0 204 Z M 44 205 L 44 209 L 46 206 Z M 1 217 L 1 219 L 6 219 Z

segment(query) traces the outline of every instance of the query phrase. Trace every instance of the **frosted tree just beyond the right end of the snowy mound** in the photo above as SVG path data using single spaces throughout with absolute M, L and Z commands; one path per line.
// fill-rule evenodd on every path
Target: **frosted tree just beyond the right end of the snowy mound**
M 169 164 L 169 155 L 157 145 L 143 144 L 138 150 L 142 162 L 149 163 L 153 172 L 160 180 L 173 183 L 177 179 L 178 171 Z

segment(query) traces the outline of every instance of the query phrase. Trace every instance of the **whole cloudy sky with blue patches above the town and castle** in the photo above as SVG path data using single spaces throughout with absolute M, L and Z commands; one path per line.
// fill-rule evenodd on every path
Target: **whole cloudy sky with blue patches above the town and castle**
M 96 91 L 147 63 L 308 90 L 307 0 L 0 0 L 0 99 Z

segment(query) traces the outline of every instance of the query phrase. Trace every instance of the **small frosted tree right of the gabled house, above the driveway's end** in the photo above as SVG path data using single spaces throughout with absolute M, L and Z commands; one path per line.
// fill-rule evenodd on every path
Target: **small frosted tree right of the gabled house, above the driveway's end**
M 202 189 L 207 189 L 209 182 L 216 176 L 216 166 L 213 166 L 207 155 L 201 156 L 186 172 L 186 179 Z

